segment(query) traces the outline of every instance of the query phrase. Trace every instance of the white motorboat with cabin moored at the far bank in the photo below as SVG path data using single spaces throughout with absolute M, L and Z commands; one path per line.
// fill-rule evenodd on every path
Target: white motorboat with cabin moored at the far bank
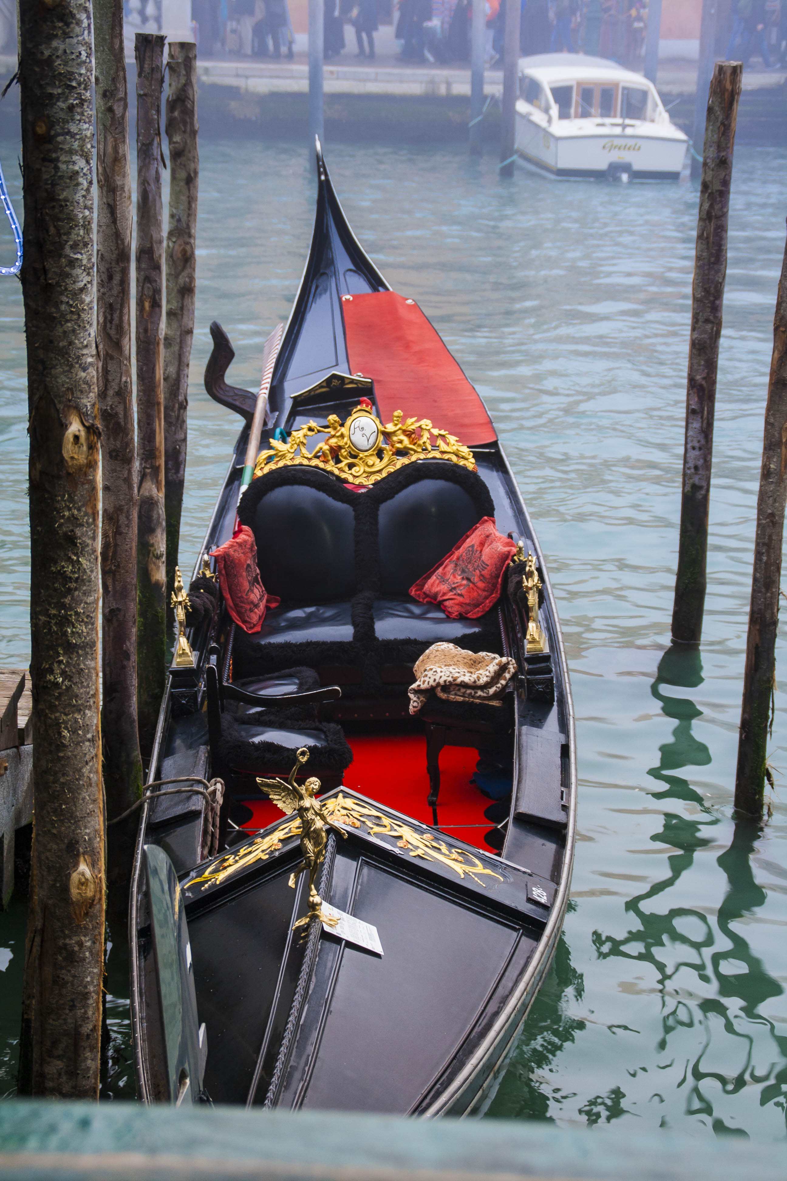
M 642 74 L 581 53 L 519 59 L 517 157 L 539 172 L 677 181 L 688 143 Z

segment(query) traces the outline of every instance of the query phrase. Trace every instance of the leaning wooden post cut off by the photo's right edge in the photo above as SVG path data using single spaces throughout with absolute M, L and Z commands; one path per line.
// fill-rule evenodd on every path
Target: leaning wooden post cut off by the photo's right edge
M 773 320 L 773 355 L 765 410 L 752 601 L 746 638 L 743 705 L 735 775 L 735 810 L 748 816 L 762 815 L 767 742 L 776 670 L 775 647 L 786 500 L 787 248 L 781 266 L 776 313 Z

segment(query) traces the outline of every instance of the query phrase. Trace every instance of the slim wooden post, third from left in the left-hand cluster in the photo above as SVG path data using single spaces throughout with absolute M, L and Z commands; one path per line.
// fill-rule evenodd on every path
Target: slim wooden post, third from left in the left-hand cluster
M 137 33 L 137 700 L 139 745 L 153 745 L 166 660 L 166 521 L 162 319 L 164 38 Z

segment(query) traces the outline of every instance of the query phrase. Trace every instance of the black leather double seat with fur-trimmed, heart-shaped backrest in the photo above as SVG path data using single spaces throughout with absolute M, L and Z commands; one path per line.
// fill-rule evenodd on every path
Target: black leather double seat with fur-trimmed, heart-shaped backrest
M 332 683 L 362 681 L 368 697 L 379 670 L 412 668 L 431 644 L 496 647 L 490 618 L 452 620 L 408 594 L 493 513 L 477 472 L 439 459 L 408 464 L 361 492 L 314 468 L 260 476 L 238 518 L 255 534 L 263 586 L 282 603 L 257 634 L 236 634 L 236 673 L 307 664 L 323 677 L 329 668 Z

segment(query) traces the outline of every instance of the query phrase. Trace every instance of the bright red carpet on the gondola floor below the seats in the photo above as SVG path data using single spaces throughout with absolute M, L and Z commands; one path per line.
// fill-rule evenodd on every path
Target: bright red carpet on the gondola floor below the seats
M 426 742 L 422 735 L 347 735 L 353 762 L 345 772 L 345 785 L 370 800 L 395 808 L 425 824 L 432 823 L 426 797 Z M 446 836 L 455 836 L 480 849 L 492 824 L 484 817 L 491 801 L 470 782 L 478 752 L 464 746 L 446 746 L 440 753 L 440 800 L 438 820 Z M 264 828 L 281 815 L 275 804 L 257 800 L 244 803 L 254 816 L 243 826 Z

